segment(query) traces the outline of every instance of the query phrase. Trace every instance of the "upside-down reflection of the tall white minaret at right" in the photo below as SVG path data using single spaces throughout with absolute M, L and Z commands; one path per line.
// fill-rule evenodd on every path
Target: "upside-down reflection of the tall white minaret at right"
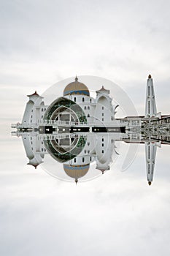
M 154 167 L 155 167 L 155 158 L 156 158 L 156 143 L 145 142 L 145 154 L 146 154 L 146 163 L 147 163 L 147 181 L 148 184 L 152 184 Z

